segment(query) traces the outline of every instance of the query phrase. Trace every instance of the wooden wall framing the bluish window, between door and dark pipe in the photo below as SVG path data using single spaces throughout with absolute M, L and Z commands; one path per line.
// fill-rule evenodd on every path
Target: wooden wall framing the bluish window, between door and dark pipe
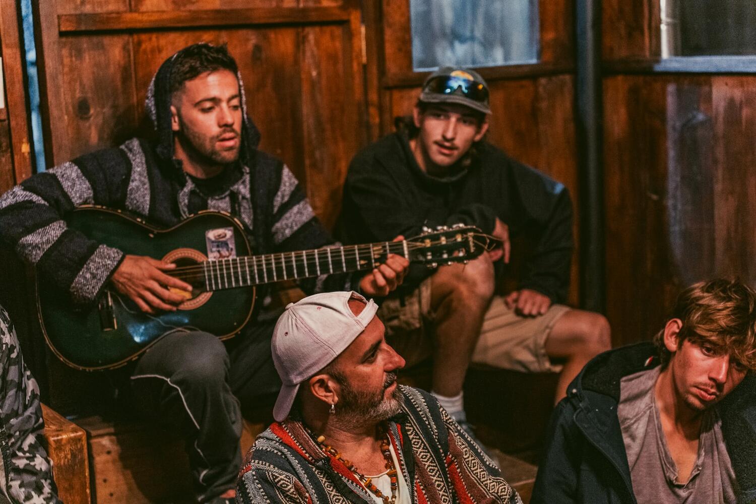
M 394 118 L 411 114 L 428 73 L 412 70 L 409 0 L 364 2 L 367 89 L 374 138 L 393 131 Z M 572 0 L 541 0 L 540 61 L 476 69 L 491 88 L 488 140 L 511 156 L 561 181 L 575 206 L 578 233 L 578 166 L 575 145 L 575 63 Z M 516 251 L 515 251 L 516 252 Z M 578 254 L 572 261 L 570 301 L 578 304 Z

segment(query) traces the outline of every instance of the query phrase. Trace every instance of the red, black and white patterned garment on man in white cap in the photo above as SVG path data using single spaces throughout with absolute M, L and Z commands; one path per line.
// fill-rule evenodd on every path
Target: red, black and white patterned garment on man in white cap
M 522 504 L 491 459 L 432 395 L 400 386 L 401 412 L 389 438 L 413 504 Z M 237 502 L 374 504 L 355 475 L 290 417 L 260 434 L 237 481 Z

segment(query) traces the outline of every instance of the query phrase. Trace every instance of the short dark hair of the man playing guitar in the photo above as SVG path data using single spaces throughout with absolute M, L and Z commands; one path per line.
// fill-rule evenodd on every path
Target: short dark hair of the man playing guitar
M 234 75 L 239 71 L 236 60 L 228 52 L 225 44 L 212 45 L 200 42 L 183 48 L 178 51 L 173 61 L 168 91 L 172 95 L 184 87 L 184 82 L 215 70 L 229 70 Z

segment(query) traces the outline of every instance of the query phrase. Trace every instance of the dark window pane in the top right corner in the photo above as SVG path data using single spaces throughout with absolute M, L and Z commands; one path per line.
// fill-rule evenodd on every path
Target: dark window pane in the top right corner
M 669 56 L 756 54 L 753 0 L 660 0 Z

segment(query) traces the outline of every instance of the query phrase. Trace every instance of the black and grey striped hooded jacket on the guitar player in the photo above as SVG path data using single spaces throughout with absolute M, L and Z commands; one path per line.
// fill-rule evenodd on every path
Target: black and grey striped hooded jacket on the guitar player
M 86 204 L 125 210 L 157 227 L 173 226 L 204 209 L 229 212 L 245 225 L 256 253 L 318 248 L 333 241 L 292 172 L 257 150 L 260 135 L 247 116 L 238 74 L 243 111 L 239 162 L 214 178 L 212 187 L 184 173 L 173 158 L 170 125 L 168 82 L 175 56 L 160 66 L 147 93 L 156 141 L 132 138 L 118 148 L 85 154 L 34 175 L 0 198 L 0 238 L 74 301 L 93 301 L 124 256 L 67 227 L 67 215 Z M 351 278 L 324 275 L 301 286 L 307 291 L 349 290 Z

